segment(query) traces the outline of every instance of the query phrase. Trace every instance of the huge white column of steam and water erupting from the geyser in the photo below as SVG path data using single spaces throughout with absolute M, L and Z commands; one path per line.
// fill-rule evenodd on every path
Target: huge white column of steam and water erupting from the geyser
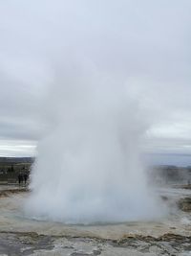
M 139 163 L 146 127 L 138 103 L 126 86 L 78 64 L 63 72 L 47 101 L 28 212 L 68 223 L 153 218 L 158 201 Z

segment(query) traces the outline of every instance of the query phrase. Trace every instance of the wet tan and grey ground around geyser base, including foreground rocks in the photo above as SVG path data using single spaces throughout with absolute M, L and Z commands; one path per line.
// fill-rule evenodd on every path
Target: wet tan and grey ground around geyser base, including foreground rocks
M 25 188 L 0 188 L 0 256 L 191 256 L 191 214 L 179 209 L 179 201 L 191 198 L 191 190 L 158 191 L 170 213 L 158 221 L 105 225 L 66 225 L 35 221 L 22 212 Z

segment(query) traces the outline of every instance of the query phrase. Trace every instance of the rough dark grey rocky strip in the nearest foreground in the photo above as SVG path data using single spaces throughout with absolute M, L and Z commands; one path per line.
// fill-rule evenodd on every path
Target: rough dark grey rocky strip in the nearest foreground
M 126 236 L 120 240 L 1 232 L 0 255 L 191 255 L 191 237 L 164 234 Z

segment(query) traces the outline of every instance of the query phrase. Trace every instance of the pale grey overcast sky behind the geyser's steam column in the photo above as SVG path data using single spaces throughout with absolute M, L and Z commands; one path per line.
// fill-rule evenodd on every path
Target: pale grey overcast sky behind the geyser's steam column
M 0 155 L 36 153 L 66 49 L 127 84 L 151 119 L 144 151 L 191 154 L 190 13 L 190 0 L 0 1 Z

